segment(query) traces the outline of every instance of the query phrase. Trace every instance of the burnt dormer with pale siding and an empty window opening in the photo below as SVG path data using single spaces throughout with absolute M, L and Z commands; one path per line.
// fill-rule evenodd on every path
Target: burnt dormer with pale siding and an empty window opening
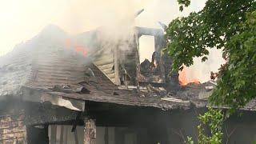
M 162 49 L 166 46 L 163 30 L 138 26 L 135 26 L 133 29 L 130 30 L 130 33 L 134 34 L 133 36 L 98 41 L 98 47 L 94 47 L 98 51 L 90 54 L 94 64 L 117 85 L 119 85 L 117 77 L 121 80 L 121 84 L 137 85 L 137 76 L 139 82 L 165 83 L 171 81 L 174 85 L 178 84 L 177 74 L 173 74 L 171 77 L 168 75 L 172 61 L 162 52 Z M 95 34 L 101 33 L 95 32 Z M 154 62 L 149 60 L 142 62 L 139 66 L 140 74 L 137 74 L 136 67 L 140 63 L 139 59 L 141 57 L 139 55 L 139 38 L 142 36 L 154 38 L 154 51 L 150 55 Z M 83 37 L 86 38 L 86 34 Z M 97 36 L 95 38 L 97 39 Z

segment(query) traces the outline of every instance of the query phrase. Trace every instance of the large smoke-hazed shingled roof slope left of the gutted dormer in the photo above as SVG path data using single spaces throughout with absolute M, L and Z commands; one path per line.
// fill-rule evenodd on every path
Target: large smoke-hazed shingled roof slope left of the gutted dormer
M 36 37 L 1 57 L 0 96 L 17 95 L 22 86 L 52 88 L 60 85 L 75 89 L 87 81 L 89 69 L 98 78 L 102 90 L 117 89 L 91 64 L 90 58 L 66 48 L 66 38 L 69 37 L 57 26 L 47 26 Z

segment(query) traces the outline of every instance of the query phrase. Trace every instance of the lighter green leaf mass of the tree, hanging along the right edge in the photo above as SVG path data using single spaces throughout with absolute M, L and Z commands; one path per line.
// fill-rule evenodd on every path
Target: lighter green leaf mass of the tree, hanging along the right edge
M 243 30 L 226 43 L 228 63 L 210 98 L 219 105 L 245 106 L 256 94 L 256 11 L 247 15 Z

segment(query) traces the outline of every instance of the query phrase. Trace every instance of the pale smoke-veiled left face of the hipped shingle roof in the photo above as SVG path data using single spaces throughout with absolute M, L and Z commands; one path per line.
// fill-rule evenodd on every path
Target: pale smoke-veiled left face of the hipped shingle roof
M 38 64 L 47 60 L 46 53 L 61 50 L 63 38 L 66 34 L 58 26 L 46 26 L 40 34 L 1 57 L 0 96 L 20 94 L 21 86 L 36 78 Z

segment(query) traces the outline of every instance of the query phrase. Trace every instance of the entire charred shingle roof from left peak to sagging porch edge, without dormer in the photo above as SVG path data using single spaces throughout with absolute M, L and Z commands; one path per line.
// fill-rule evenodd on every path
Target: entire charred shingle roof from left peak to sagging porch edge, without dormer
M 123 89 L 114 84 L 94 59 L 67 49 L 66 38 L 70 36 L 57 26 L 47 26 L 36 37 L 15 46 L 12 52 L 1 57 L 0 100 L 22 98 L 81 111 L 84 101 L 150 106 L 163 110 L 207 105 L 213 89 L 209 83 L 191 84 L 175 89 L 175 93 L 163 90 L 163 94 L 154 93 L 153 86 L 141 86 L 141 92 L 135 88 Z M 152 91 L 154 94 L 148 94 Z M 246 106 L 246 110 L 255 108 L 255 102 Z

